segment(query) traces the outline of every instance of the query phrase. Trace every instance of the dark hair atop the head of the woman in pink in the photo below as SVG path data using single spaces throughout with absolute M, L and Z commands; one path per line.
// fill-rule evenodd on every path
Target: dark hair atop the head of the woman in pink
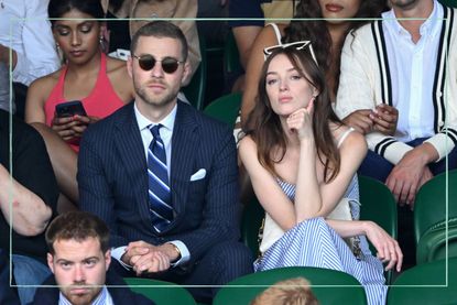
M 105 18 L 100 0 L 50 0 L 47 14 L 50 18 L 62 18 L 74 9 L 96 19 Z M 55 20 L 51 20 L 51 23 L 54 24 Z

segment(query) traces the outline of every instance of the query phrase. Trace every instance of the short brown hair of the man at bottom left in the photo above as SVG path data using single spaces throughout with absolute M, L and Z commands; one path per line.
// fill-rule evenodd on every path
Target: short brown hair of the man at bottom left
M 55 254 L 54 242 L 74 239 L 83 242 L 87 238 L 96 238 L 105 253 L 109 247 L 109 229 L 97 216 L 87 211 L 68 211 L 57 216 L 46 230 L 46 243 L 51 254 Z

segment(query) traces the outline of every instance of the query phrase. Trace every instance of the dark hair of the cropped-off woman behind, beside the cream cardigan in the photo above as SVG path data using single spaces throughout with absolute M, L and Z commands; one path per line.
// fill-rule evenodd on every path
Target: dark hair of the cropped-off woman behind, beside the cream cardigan
M 379 18 L 381 13 L 388 10 L 385 0 L 360 0 L 360 7 L 357 11 L 355 18 Z M 296 6 L 296 13 L 294 19 L 291 21 L 290 25 L 284 30 L 285 35 L 283 37 L 283 43 L 296 42 L 307 40 L 311 41 L 314 50 L 316 51 L 317 62 L 319 67 L 324 72 L 328 73 L 330 65 L 334 67 L 339 67 L 340 63 L 340 53 L 345 40 L 342 39 L 338 42 L 338 47 L 334 52 L 337 54 L 331 54 L 331 37 L 328 29 L 326 26 L 326 21 L 323 18 L 319 1 L 318 0 L 302 0 Z M 303 20 L 308 19 L 308 20 Z M 367 20 L 355 20 L 349 23 L 349 28 L 345 33 L 344 37 L 361 25 L 366 24 Z M 334 55 L 334 56 L 333 56 Z M 338 56 L 336 56 L 338 55 Z M 336 59 L 335 63 L 331 63 L 333 58 Z M 339 68 L 335 69 L 335 90 L 338 88 L 339 80 Z

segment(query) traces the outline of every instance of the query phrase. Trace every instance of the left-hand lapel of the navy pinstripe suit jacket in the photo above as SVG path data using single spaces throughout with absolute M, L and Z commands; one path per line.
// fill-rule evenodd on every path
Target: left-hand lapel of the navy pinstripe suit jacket
M 148 209 L 148 176 L 144 148 L 133 111 L 133 102 L 126 107 L 123 116 L 115 123 L 115 141 L 120 162 L 126 168 L 124 182 L 133 189 L 135 203 L 142 221 L 150 224 Z

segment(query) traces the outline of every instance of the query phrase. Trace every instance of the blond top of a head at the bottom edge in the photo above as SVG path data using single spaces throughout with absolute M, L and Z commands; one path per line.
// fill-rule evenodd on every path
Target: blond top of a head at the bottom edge
M 318 305 L 309 287 L 309 282 L 295 277 L 275 283 L 260 295 L 251 305 Z

